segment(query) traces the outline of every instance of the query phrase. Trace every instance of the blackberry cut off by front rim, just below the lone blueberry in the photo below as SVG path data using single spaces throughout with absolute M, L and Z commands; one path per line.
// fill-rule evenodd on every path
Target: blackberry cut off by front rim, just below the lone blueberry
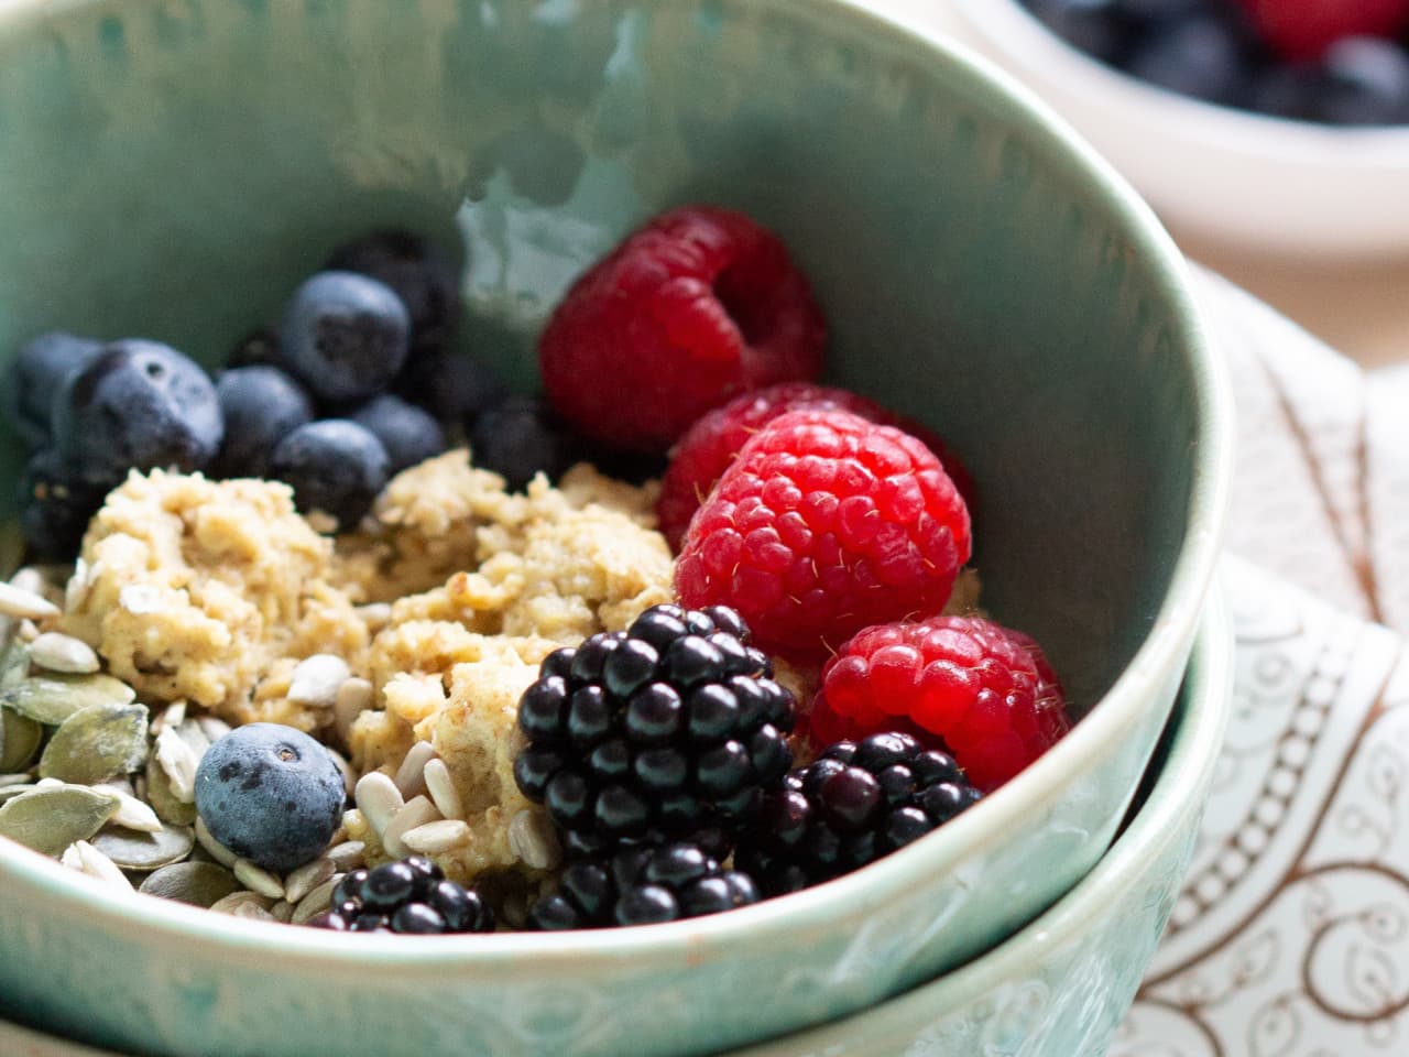
M 354 870 L 333 891 L 333 909 L 310 925 L 337 932 L 493 932 L 493 910 L 478 892 L 445 878 L 421 855 Z

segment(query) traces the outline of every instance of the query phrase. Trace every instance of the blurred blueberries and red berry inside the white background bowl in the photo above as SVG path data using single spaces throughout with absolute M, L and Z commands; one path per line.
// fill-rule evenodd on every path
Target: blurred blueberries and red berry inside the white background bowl
M 1171 92 L 1333 125 L 1409 124 L 1406 0 L 1022 0 Z

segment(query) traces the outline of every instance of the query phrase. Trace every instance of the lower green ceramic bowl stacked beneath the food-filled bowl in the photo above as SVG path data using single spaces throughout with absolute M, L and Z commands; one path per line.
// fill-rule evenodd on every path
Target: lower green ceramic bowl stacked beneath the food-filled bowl
M 1193 855 L 1233 700 L 1213 602 L 1120 839 L 1053 909 L 964 968 L 855 1016 L 730 1057 L 1103 1054 L 1130 1009 Z

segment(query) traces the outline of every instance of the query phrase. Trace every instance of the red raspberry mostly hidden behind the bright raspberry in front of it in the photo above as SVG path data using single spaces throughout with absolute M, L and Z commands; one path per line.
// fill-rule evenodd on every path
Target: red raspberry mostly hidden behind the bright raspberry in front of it
M 782 382 L 744 393 L 723 407 L 707 412 L 675 445 L 675 451 L 671 452 L 671 465 L 661 481 L 661 497 L 655 505 L 661 531 L 672 550 L 679 551 L 690 517 L 699 510 L 700 503 L 709 496 L 714 482 L 719 481 L 735 452 L 744 447 L 744 443 L 779 414 L 810 409 L 851 412 L 883 426 L 898 426 L 923 441 L 938 457 L 944 471 L 972 513 L 974 479 L 958 457 L 923 426 L 906 421 L 875 400 L 868 400 L 847 389 L 812 382 Z

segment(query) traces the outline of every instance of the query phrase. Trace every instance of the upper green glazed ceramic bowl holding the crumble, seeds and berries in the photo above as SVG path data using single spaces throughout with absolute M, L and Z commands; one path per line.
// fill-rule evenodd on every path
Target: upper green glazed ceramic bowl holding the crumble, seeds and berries
M 0 0 L 6 354 L 63 327 L 216 364 L 402 224 L 462 249 L 465 341 L 531 386 L 569 279 L 690 200 L 776 228 L 833 381 L 964 454 L 985 602 L 1074 733 L 871 868 L 610 933 L 259 927 L 4 846 L 0 1013 L 163 1054 L 700 1053 L 930 979 L 1091 870 L 1185 668 L 1230 412 L 1179 255 L 1031 97 L 847 0 Z

